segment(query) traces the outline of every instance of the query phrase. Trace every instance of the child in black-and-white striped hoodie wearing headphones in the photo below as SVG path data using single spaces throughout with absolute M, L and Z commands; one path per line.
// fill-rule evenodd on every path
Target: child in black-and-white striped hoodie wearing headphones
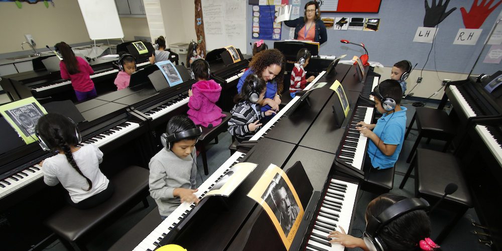
M 274 110 L 262 111 L 262 102 L 267 85 L 257 74 L 250 74 L 244 80 L 240 92 L 234 97 L 236 103 L 230 113 L 232 117 L 228 121 L 228 132 L 238 142 L 249 140 L 260 129 L 260 119 L 275 114 Z

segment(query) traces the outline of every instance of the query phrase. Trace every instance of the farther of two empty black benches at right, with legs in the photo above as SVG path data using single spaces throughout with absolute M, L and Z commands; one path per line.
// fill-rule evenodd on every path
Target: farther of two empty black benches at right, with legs
M 427 144 L 429 144 L 431 139 L 446 141 L 443 148 L 443 152 L 446 152 L 446 149 L 448 149 L 448 146 L 456 134 L 455 128 L 446 111 L 427 107 L 417 107 L 411 119 L 410 126 L 408 130 L 406 130 L 405 140 L 408 138 L 408 134 L 415 120 L 417 120 L 418 137 L 406 162 L 410 163 L 422 137 L 428 138 Z

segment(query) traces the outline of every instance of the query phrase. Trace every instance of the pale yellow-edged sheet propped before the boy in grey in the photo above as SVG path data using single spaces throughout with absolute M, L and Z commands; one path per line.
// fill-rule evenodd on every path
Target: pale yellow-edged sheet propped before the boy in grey
M 228 197 L 230 194 L 232 194 L 233 191 L 242 183 L 242 181 L 245 180 L 245 178 L 255 170 L 257 167 L 257 164 L 254 163 L 249 163 L 249 162 L 242 162 L 242 163 L 237 163 L 226 172 L 221 179 L 214 184 L 213 188 L 211 188 L 211 191 L 207 192 L 206 195 L 204 195 L 204 198 L 207 196 L 214 196 L 214 195 L 219 195 L 219 196 L 225 196 Z

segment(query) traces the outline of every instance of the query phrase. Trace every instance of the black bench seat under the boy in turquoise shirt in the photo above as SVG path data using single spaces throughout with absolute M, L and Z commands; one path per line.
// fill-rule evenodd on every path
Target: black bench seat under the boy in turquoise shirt
M 375 193 L 387 193 L 394 187 L 394 170 L 395 167 L 376 170 L 373 169 L 365 178 L 362 189 Z

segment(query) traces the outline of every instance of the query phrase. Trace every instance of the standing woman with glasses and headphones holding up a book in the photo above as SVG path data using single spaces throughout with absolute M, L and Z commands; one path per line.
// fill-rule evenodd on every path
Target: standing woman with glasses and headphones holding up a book
M 295 27 L 295 39 L 319 42 L 322 45 L 328 37 L 326 27 L 321 20 L 321 10 L 319 4 L 310 1 L 305 5 L 304 17 L 295 20 L 284 21 L 289 27 Z

